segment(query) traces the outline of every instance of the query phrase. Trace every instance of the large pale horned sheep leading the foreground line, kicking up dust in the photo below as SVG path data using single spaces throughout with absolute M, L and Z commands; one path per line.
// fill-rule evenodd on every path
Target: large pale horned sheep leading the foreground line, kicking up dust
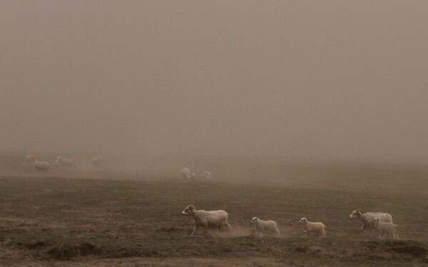
M 195 219 L 195 226 L 193 227 L 193 232 L 190 237 L 193 237 L 196 229 L 199 227 L 205 228 L 205 232 L 208 233 L 208 228 L 218 228 L 222 227 L 232 230 L 232 226 L 229 224 L 229 214 L 223 210 L 220 211 L 197 211 L 195 206 L 190 205 L 185 207 L 184 211 L 181 211 L 182 216 L 191 216 Z

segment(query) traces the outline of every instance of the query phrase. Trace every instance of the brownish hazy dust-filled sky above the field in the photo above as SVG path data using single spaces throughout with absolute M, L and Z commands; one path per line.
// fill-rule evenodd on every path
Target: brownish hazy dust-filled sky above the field
M 427 1 L 0 1 L 0 150 L 428 160 Z

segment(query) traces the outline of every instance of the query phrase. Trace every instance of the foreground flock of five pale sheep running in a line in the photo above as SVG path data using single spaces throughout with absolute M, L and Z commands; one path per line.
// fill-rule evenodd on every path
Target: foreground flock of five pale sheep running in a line
M 190 205 L 181 211 L 181 215 L 191 216 L 195 220 L 195 226 L 193 227 L 193 232 L 190 235 L 191 237 L 199 227 L 204 228 L 205 233 L 208 233 L 208 228 L 220 230 L 225 228 L 228 231 L 233 231 L 233 228 L 229 223 L 229 213 L 223 210 L 198 211 L 195 206 Z M 398 239 L 396 230 L 397 225 L 392 223 L 392 216 L 388 213 L 363 213 L 362 210 L 356 209 L 355 211 L 352 211 L 349 218 L 362 221 L 362 230 L 365 228 L 373 228 L 376 230 L 377 233 L 379 233 L 379 239 Z M 301 218 L 299 222 L 303 226 L 303 233 L 306 237 L 312 234 L 318 237 L 327 236 L 324 223 L 307 221 L 307 218 Z M 255 233 L 280 236 L 280 230 L 278 229 L 275 221 L 262 221 L 259 218 L 254 217 L 251 220 L 251 223 L 253 223 Z

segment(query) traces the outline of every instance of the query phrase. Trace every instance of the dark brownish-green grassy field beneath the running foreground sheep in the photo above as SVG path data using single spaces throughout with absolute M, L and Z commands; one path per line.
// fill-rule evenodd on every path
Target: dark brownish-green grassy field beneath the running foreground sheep
M 5 174 L 0 178 L 0 265 L 427 265 L 424 168 L 334 170 L 313 167 L 310 172 L 323 178 L 298 176 L 300 182 L 290 178 L 289 184 L 265 185 L 153 181 L 112 171 Z M 327 173 L 336 176 L 329 180 Z M 200 231 L 190 238 L 193 219 L 180 216 L 189 204 L 225 209 L 235 231 L 206 237 Z M 360 221 L 347 217 L 355 208 L 391 213 L 400 240 L 378 241 L 374 232 L 361 233 Z M 251 235 L 253 216 L 277 221 L 281 238 Z M 325 223 L 327 238 L 304 238 L 297 223 L 304 216 Z

